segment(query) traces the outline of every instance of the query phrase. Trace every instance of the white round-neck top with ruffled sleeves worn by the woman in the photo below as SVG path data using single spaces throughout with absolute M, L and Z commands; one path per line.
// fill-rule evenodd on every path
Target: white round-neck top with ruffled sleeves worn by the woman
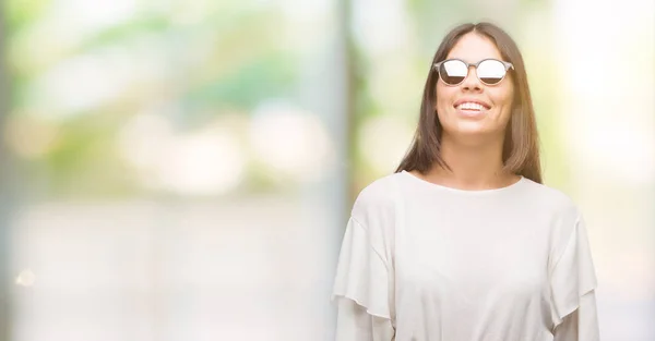
M 333 300 L 337 341 L 598 340 L 584 221 L 528 179 L 497 190 L 408 172 L 355 202 Z

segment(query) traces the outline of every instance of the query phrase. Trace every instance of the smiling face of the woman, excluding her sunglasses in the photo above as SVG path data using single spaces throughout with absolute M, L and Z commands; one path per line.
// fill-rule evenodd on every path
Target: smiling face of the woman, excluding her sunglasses
M 493 41 L 476 33 L 460 38 L 446 59 L 461 59 L 477 63 L 483 59 L 502 60 Z M 461 137 L 504 136 L 504 130 L 512 112 L 514 85 L 511 73 L 496 85 L 485 85 L 475 74 L 475 66 L 468 70 L 468 76 L 460 85 L 450 86 L 437 82 L 437 114 L 444 135 Z M 464 106 L 476 102 L 479 106 Z M 466 109 L 468 108 L 468 109 Z

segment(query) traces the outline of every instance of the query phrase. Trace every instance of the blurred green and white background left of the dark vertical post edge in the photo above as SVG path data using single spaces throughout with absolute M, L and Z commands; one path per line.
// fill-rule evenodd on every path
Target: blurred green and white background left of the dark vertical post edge
M 8 340 L 327 338 L 343 3 L 4 5 Z

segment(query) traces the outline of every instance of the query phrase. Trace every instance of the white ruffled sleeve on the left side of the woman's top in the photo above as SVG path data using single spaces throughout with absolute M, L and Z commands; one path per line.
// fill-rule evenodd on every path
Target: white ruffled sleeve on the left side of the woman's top
M 350 218 L 332 293 L 332 300 L 338 302 L 336 341 L 393 340 L 391 278 L 371 234 Z

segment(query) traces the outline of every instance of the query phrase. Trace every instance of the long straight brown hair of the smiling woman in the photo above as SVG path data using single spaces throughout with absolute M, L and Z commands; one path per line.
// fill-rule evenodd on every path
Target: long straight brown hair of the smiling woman
M 514 40 L 500 27 L 490 23 L 462 24 L 453 28 L 441 41 L 430 63 L 430 72 L 420 103 L 418 127 L 414 134 L 412 146 L 396 172 L 418 170 L 425 173 L 433 165 L 449 169 L 441 157 L 442 126 L 434 110 L 439 74 L 432 65 L 444 60 L 460 38 L 471 32 L 490 38 L 496 44 L 503 60 L 514 65 L 511 80 L 517 92 L 514 92 L 512 117 L 505 129 L 502 153 L 504 170 L 541 183 L 539 138 L 523 57 L 521 57 Z

